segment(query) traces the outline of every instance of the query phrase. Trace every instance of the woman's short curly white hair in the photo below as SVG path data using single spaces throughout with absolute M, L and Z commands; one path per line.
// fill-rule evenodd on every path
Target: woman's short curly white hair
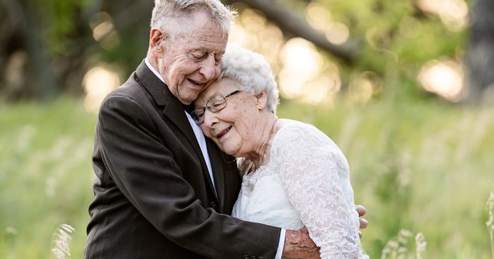
M 276 113 L 279 103 L 278 86 L 270 64 L 262 55 L 236 44 L 228 44 L 222 58 L 222 73 L 218 80 L 222 78 L 239 81 L 242 91 L 252 94 L 264 91 L 267 96 L 267 110 Z

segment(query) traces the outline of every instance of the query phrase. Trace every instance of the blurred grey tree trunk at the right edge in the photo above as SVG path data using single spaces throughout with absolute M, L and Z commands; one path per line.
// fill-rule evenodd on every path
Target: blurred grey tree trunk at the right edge
M 494 1 L 476 0 L 467 64 L 469 99 L 476 101 L 486 90 L 494 91 Z M 486 93 L 487 94 L 487 93 Z M 492 94 L 492 93 L 491 93 Z

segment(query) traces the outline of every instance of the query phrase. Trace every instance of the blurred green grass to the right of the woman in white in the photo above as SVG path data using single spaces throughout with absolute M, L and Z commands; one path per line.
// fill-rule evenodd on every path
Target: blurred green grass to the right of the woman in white
M 285 101 L 279 115 L 313 123 L 344 151 L 355 201 L 368 209 L 362 243 L 370 258 L 379 258 L 399 229 L 423 232 L 424 258 L 488 258 L 493 107 L 383 99 L 315 108 Z

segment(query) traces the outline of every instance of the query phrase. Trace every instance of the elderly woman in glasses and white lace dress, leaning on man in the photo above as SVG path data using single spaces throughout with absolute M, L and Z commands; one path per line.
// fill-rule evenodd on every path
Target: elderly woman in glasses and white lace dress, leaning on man
M 323 259 L 368 258 L 342 151 L 313 125 L 277 118 L 277 84 L 263 56 L 229 46 L 222 66 L 191 115 L 222 151 L 241 158 L 234 217 L 306 226 Z

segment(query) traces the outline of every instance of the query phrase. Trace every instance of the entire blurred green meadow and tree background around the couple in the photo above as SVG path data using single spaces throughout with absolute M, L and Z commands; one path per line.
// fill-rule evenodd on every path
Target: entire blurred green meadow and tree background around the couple
M 347 156 L 371 258 L 494 258 L 493 1 L 222 2 L 279 117 Z M 54 258 L 62 224 L 82 258 L 96 113 L 145 57 L 152 6 L 0 0 L 0 258 Z

